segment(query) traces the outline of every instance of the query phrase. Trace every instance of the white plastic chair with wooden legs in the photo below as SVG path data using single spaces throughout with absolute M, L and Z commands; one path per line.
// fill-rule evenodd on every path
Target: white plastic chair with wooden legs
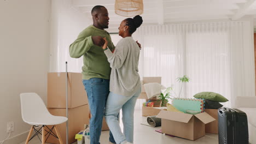
M 26 144 L 38 134 L 42 135 L 42 143 L 45 143 L 50 135 L 53 135 L 59 139 L 59 142 L 62 144 L 63 142 L 61 140 L 59 130 L 57 130 L 55 125 L 66 122 L 67 118 L 51 115 L 50 112 L 46 109 L 44 101 L 36 93 L 21 93 L 20 100 L 22 119 L 24 122 L 32 125 L 30 133 L 28 133 L 27 136 Z M 37 130 L 35 127 L 39 127 L 39 125 L 42 126 L 39 130 Z M 53 125 L 53 127 L 50 129 L 47 127 L 47 125 Z M 56 134 L 54 134 L 53 129 L 55 129 Z M 33 130 L 36 132 L 36 134 L 30 138 Z M 47 133 L 45 134 L 45 132 Z M 47 135 L 48 137 L 45 140 Z

